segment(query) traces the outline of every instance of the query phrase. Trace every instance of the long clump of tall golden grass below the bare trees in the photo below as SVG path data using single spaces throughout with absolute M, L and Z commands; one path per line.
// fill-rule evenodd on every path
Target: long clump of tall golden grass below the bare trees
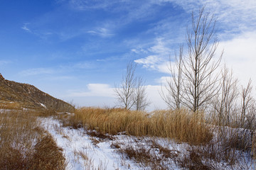
M 169 137 L 193 145 L 209 142 L 213 137 L 203 113 L 187 110 L 126 111 L 121 108 L 79 108 L 73 117 L 73 124 L 116 135 Z

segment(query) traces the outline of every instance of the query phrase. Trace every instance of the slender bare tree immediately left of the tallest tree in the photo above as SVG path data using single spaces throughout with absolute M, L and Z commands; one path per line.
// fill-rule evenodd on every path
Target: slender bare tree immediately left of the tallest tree
M 179 48 L 179 55 L 175 55 L 175 62 L 171 62 L 171 57 L 169 57 L 168 69 L 171 74 L 171 79 L 166 79 L 165 89 L 167 94 L 164 93 L 163 86 L 161 86 L 161 98 L 169 106 L 169 108 L 180 109 L 183 97 L 183 46 Z M 173 65 L 173 64 L 174 65 Z

